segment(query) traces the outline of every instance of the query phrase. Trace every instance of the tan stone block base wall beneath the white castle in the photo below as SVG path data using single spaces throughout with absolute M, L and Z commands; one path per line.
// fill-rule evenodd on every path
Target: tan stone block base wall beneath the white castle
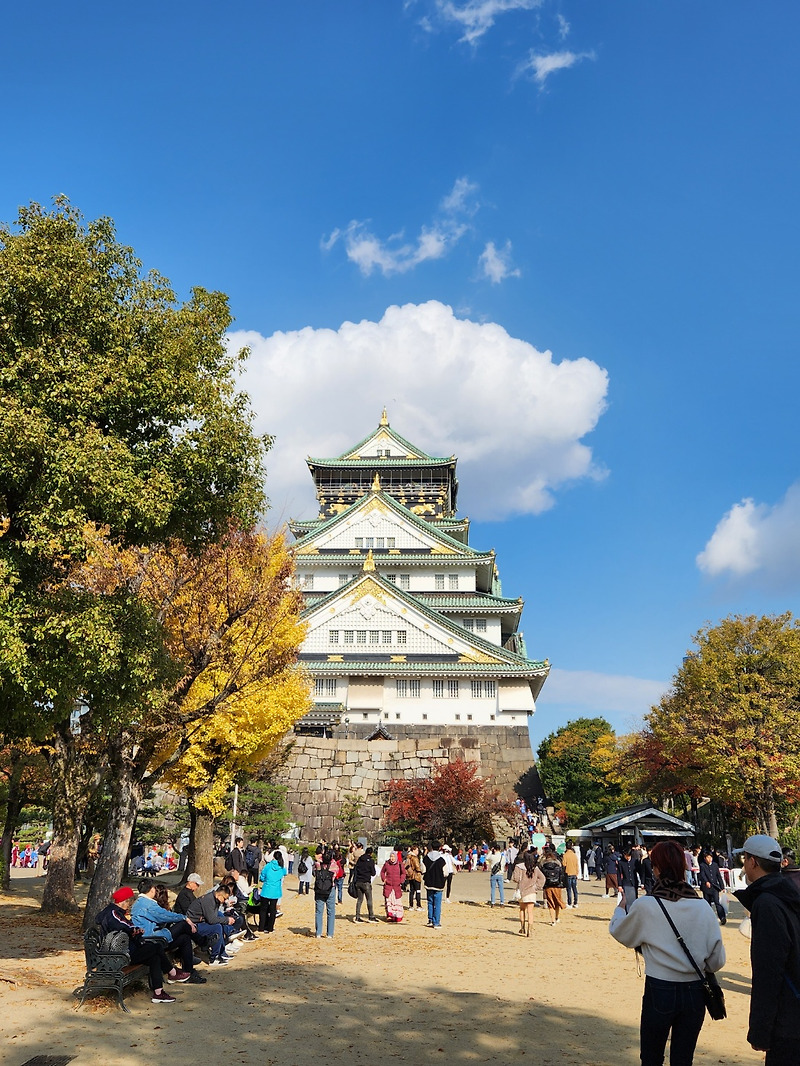
M 527 726 L 466 726 L 458 732 L 443 726 L 404 727 L 393 740 L 366 738 L 374 726 L 350 726 L 332 738 L 293 737 L 283 771 L 288 804 L 303 837 L 311 840 L 340 834 L 341 801 L 361 796 L 368 836 L 383 828 L 388 807 L 386 782 L 421 777 L 436 763 L 463 759 L 477 762 L 481 777 L 492 777 L 503 796 L 515 798 L 514 785 L 533 763 Z

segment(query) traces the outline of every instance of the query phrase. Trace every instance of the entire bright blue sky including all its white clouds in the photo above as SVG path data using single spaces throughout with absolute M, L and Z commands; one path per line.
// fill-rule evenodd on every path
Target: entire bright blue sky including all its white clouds
M 276 434 L 460 457 L 549 658 L 624 730 L 691 635 L 795 610 L 800 7 L 303 0 L 0 14 L 0 219 L 66 193 L 222 289 Z

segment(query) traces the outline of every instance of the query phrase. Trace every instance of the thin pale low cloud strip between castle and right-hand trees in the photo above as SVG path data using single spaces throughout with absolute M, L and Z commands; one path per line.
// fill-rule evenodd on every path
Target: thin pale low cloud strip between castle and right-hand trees
M 592 714 L 604 711 L 644 715 L 669 689 L 665 681 L 592 671 L 550 671 L 540 704 L 569 705 Z

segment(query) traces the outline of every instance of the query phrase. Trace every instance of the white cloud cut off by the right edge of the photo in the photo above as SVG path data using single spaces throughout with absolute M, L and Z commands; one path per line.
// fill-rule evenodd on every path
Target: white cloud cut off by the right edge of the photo
M 757 575 L 771 582 L 800 576 L 800 483 L 773 506 L 752 499 L 735 503 L 697 564 L 713 578 Z

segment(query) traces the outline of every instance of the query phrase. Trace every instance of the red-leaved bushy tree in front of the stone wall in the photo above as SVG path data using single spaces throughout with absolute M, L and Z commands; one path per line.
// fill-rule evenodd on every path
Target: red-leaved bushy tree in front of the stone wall
M 413 826 L 421 839 L 492 839 L 494 819 L 515 812 L 491 780 L 478 776 L 478 764 L 462 759 L 433 765 L 427 777 L 390 780 L 387 788 L 387 824 Z

